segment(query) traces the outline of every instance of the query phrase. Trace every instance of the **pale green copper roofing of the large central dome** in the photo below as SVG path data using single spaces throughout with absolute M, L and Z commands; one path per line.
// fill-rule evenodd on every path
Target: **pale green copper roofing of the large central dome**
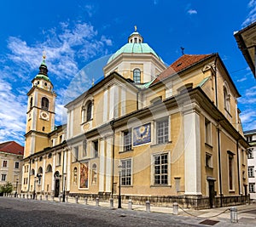
M 131 35 L 133 35 L 133 32 Z M 160 59 L 160 56 L 154 52 L 153 48 L 150 48 L 148 46 L 148 43 L 126 43 L 122 48 L 119 48 L 119 50 L 114 53 L 108 60 L 108 63 L 117 58 L 120 54 L 154 54 L 155 57 L 157 57 L 160 61 L 163 62 L 163 60 Z

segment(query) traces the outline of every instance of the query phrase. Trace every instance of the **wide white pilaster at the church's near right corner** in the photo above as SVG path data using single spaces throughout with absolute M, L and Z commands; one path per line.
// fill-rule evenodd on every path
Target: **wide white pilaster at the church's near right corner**
M 201 195 L 201 133 L 197 106 L 183 112 L 185 195 Z

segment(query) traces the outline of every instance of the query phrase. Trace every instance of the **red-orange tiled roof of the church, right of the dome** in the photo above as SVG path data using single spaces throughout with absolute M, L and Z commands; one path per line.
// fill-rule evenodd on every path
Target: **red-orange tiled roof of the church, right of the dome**
M 160 75 L 154 80 L 154 83 L 160 82 L 161 80 L 176 74 L 178 71 L 182 71 L 189 68 L 192 65 L 200 62 L 201 60 L 207 59 L 209 56 L 214 54 L 183 54 L 179 59 L 174 61 L 165 71 L 162 71 Z

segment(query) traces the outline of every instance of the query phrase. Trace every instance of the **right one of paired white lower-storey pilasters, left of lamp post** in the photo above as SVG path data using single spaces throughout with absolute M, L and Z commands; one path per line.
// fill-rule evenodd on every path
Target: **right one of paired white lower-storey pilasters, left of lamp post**
M 106 150 L 106 192 L 111 192 L 111 173 L 112 173 L 112 137 L 107 139 Z

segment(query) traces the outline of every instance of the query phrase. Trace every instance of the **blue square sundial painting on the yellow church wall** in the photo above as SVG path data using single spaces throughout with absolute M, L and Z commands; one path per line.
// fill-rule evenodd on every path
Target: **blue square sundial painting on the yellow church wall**
M 151 142 L 151 123 L 133 128 L 133 145 L 143 145 Z

